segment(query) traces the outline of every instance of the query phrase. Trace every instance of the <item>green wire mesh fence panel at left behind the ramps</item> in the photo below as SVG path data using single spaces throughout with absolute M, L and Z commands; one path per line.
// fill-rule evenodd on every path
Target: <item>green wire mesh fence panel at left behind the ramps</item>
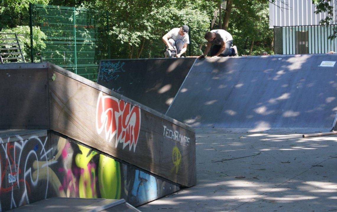
M 101 17 L 95 11 L 75 7 L 30 5 L 31 28 L 38 26 L 48 38 L 42 52 L 32 51 L 32 62 L 39 57 L 96 81 L 100 51 L 97 46 L 104 32 Z M 32 34 L 31 34 L 32 39 Z

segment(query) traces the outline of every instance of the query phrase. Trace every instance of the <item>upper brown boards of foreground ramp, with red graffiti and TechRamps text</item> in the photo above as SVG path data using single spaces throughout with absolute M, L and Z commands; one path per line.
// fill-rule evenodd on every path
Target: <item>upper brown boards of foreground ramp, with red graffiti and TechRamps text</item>
M 21 69 L 26 71 L 23 77 Z M 22 77 L 34 87 L 42 70 L 41 96 L 17 83 Z M 1 89 L 8 91 L 0 107 L 8 114 L 22 114 L 20 119 L 0 119 L 0 126 L 31 129 L 27 120 L 35 120 L 38 128 L 59 132 L 179 185 L 195 185 L 195 133 L 187 125 L 50 63 L 8 64 L 0 67 L 0 73 L 11 76 L 0 78 L 6 81 L 5 86 L 0 83 Z M 7 104 L 16 100 L 25 104 Z M 41 111 L 30 106 L 34 101 L 33 105 L 42 104 L 36 106 Z

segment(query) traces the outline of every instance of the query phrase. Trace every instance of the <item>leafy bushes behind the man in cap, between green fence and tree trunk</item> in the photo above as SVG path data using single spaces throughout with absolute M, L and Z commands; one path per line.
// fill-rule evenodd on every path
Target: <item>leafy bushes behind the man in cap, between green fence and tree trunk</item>
M 201 54 L 198 45 L 205 42 L 203 37 L 210 20 L 200 9 L 206 1 L 184 2 L 188 6 L 174 0 L 116 0 L 87 6 L 103 14 L 109 9 L 109 35 L 103 40 L 110 45 L 113 58 L 163 57 L 165 45 L 161 37 L 183 24 L 190 27 L 191 55 Z

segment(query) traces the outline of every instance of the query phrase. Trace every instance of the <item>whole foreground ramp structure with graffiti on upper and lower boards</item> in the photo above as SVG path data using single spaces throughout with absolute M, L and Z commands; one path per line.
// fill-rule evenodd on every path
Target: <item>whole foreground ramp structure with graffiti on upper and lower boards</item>
M 137 206 L 195 185 L 187 125 L 50 63 L 0 79 L 2 211 L 50 197 Z

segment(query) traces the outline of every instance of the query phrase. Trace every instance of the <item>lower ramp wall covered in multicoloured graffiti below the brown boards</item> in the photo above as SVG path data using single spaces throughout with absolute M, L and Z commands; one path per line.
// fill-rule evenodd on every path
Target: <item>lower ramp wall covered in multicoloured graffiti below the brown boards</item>
M 0 211 L 50 197 L 123 198 L 138 206 L 179 190 L 78 142 L 48 135 L 0 138 Z

